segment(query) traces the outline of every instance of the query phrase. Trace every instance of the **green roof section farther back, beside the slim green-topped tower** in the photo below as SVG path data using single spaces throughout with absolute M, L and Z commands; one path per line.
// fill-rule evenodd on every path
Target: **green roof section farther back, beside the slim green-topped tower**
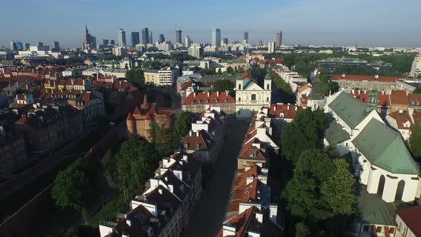
M 338 114 L 340 119 L 345 121 L 350 128 L 355 128 L 369 114 L 366 104 L 350 96 L 345 91 L 340 92 L 338 97 L 329 104 L 329 108 L 335 114 Z

